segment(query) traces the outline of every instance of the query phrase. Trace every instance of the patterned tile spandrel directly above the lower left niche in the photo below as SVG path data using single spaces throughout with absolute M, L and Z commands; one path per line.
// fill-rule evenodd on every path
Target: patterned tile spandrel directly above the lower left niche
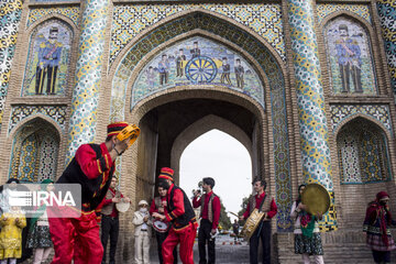
M 66 109 L 65 106 L 16 106 L 12 108 L 11 119 L 9 123 L 10 133 L 15 125 L 22 120 L 35 116 L 37 113 L 44 114 L 56 123 L 59 124 L 61 129 L 65 131 L 66 125 Z

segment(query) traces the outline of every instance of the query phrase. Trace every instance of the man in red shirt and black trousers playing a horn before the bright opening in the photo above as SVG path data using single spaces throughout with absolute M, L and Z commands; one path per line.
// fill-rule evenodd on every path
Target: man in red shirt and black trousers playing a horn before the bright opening
M 199 250 L 199 264 L 215 264 L 216 263 L 216 243 L 215 234 L 219 226 L 220 219 L 220 199 L 213 194 L 215 179 L 207 177 L 202 179 L 202 188 L 205 194 L 198 199 L 198 191 L 195 191 L 193 206 L 194 208 L 200 207 L 200 224 L 198 231 L 198 250 Z M 208 261 L 206 257 L 206 244 L 208 243 Z

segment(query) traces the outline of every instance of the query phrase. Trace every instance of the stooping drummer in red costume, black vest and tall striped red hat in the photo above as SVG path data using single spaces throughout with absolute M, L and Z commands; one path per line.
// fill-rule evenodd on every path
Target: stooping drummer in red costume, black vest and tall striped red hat
M 180 260 L 184 264 L 194 264 L 193 245 L 197 232 L 197 221 L 193 206 L 186 193 L 174 185 L 174 170 L 172 168 L 163 167 L 158 176 L 158 187 L 167 190 L 166 194 L 166 210 L 167 213 L 160 215 L 153 212 L 153 217 L 161 220 L 172 222 L 172 228 L 168 237 L 163 243 L 163 258 L 164 264 L 173 264 L 173 251 L 178 243 L 180 243 Z

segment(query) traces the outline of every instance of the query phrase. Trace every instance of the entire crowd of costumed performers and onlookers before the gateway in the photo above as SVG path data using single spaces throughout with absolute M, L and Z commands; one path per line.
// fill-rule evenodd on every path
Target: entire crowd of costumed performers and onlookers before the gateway
M 18 187 L 19 180 L 10 178 L 7 189 L 0 187 L 0 264 L 14 264 L 25 260 L 23 251 L 31 251 L 33 263 L 45 262 L 54 251 L 52 263 L 107 263 L 108 240 L 110 239 L 109 263 L 116 263 L 119 237 L 119 211 L 117 204 L 131 204 L 117 188 L 113 176 L 116 160 L 130 145 L 130 139 L 119 140 L 117 135 L 128 127 L 125 122 L 108 125 L 108 135 L 101 144 L 79 146 L 75 157 L 57 179 L 58 184 L 80 184 L 81 210 L 79 217 L 51 217 L 45 204 L 37 208 L 37 213 L 26 218 L 23 209 L 2 202 L 8 191 Z M 271 263 L 271 219 L 277 213 L 275 199 L 266 191 L 266 182 L 253 180 L 254 195 L 249 198 L 240 221 L 258 211 L 263 215 L 257 228 L 249 240 L 250 263 L 258 263 L 258 245 L 262 241 L 262 263 Z M 216 263 L 216 235 L 220 220 L 220 198 L 213 193 L 216 182 L 211 177 L 202 179 L 204 194 L 195 191 L 190 200 L 186 193 L 175 185 L 174 170 L 163 167 L 157 177 L 157 197 L 148 204 L 139 201 L 139 209 L 133 213 L 134 224 L 134 262 L 150 263 L 152 229 L 157 242 L 160 263 L 174 264 L 178 258 L 184 264 L 193 264 L 193 246 L 197 235 L 198 221 L 194 208 L 200 208 L 198 230 L 199 264 Z M 54 182 L 44 179 L 41 189 L 51 191 Z M 304 263 L 323 261 L 323 248 L 319 232 L 320 213 L 309 213 L 308 206 L 301 201 L 306 185 L 298 187 L 298 197 L 290 209 L 295 221 L 295 253 L 301 254 Z M 396 226 L 388 207 L 389 195 L 381 191 L 376 199 L 369 204 L 363 230 L 366 243 L 372 250 L 375 263 L 391 263 L 391 251 L 396 249 L 389 227 Z M 99 224 L 101 222 L 101 232 Z M 239 221 L 233 223 L 235 244 L 239 235 Z M 100 234 L 101 233 L 101 234 Z M 177 254 L 178 249 L 178 254 Z M 22 257 L 23 256 L 23 257 Z

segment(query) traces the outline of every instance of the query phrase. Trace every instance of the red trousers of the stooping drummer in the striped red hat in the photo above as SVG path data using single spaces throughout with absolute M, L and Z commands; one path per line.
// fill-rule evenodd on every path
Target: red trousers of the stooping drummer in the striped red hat
M 183 264 L 194 264 L 193 246 L 197 234 L 197 223 L 189 223 L 183 230 L 170 229 L 168 237 L 162 245 L 164 264 L 173 264 L 173 251 L 180 243 L 179 254 Z

